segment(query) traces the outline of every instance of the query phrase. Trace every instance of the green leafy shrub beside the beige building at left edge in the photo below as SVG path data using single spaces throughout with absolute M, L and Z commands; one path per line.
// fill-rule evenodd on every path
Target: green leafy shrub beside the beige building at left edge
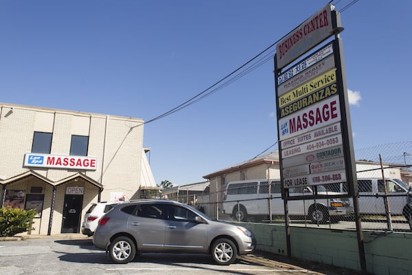
M 0 208 L 0 236 L 14 236 L 32 229 L 34 209 Z

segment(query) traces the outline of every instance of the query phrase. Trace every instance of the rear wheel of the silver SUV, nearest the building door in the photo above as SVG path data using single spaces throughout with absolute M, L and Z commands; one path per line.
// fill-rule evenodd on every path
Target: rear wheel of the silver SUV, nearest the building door
M 115 263 L 128 263 L 135 258 L 136 245 L 127 236 L 118 236 L 109 245 L 108 252 Z

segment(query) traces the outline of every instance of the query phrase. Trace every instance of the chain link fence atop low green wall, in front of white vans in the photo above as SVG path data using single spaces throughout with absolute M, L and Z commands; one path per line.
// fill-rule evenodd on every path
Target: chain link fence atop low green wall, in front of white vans
M 364 230 L 412 230 L 412 142 L 385 144 L 355 152 L 358 203 Z M 204 183 L 202 183 L 204 184 Z M 279 179 L 233 181 L 174 197 L 192 204 L 209 217 L 226 221 L 285 223 Z M 216 190 L 215 189 L 215 190 Z M 347 184 L 289 188 L 289 195 L 317 195 L 321 199 L 288 200 L 290 226 L 356 230 L 352 198 Z M 330 198 L 332 197 L 332 198 Z

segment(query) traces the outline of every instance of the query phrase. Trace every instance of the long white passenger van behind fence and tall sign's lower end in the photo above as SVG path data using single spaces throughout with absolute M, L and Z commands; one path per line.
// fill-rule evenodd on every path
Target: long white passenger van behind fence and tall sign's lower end
M 273 215 L 284 215 L 280 179 L 271 179 L 271 211 Z M 231 214 L 233 219 L 247 221 L 249 216 L 268 216 L 268 180 L 231 181 L 225 184 L 223 211 Z M 312 195 L 311 187 L 289 188 L 291 196 Z M 318 195 L 338 195 L 323 186 L 318 186 Z M 353 208 L 348 198 L 307 199 L 288 201 L 288 214 L 309 217 L 314 223 L 325 223 L 329 219 L 351 217 Z

